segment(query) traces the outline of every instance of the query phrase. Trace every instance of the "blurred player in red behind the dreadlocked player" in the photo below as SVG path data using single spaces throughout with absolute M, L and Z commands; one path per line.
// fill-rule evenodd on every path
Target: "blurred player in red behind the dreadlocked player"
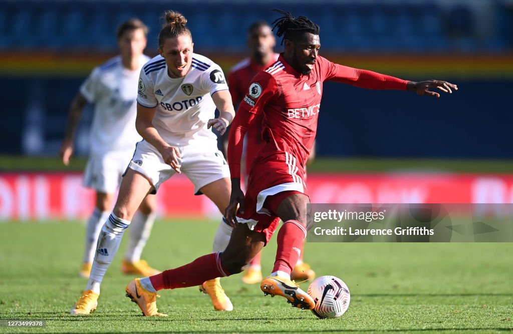
M 278 60 L 278 53 L 273 51 L 276 45 L 276 39 L 271 30 L 271 26 L 265 21 L 254 22 L 248 29 L 247 46 L 250 56 L 233 66 L 228 74 L 228 87 L 230 88 L 231 100 L 234 106 L 238 106 L 248 92 L 251 79 L 257 73 L 265 70 Z M 249 174 L 249 166 L 257 152 L 264 147 L 265 142 L 262 139 L 262 121 L 263 116 L 259 115 L 253 125 L 248 128 L 244 141 L 244 178 Z M 228 131 L 227 131 L 228 132 Z M 223 136 L 223 147 L 226 152 L 228 145 L 228 133 Z M 225 153 L 226 154 L 226 153 Z M 313 159 L 310 154 L 309 161 Z M 247 181 L 247 180 L 246 180 Z M 249 263 L 242 281 L 247 284 L 260 283 L 262 281 L 261 253 L 258 253 Z M 304 281 L 313 280 L 315 272 L 307 263 L 303 262 L 303 253 L 298 263 L 290 274 L 293 280 Z

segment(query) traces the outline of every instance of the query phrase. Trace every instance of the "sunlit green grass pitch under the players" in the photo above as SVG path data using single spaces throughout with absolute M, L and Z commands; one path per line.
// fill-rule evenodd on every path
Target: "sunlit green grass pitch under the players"
M 215 221 L 157 221 L 143 258 L 173 268 L 211 250 Z M 198 288 L 160 291 L 159 310 L 146 318 L 125 297 L 133 278 L 120 271 L 126 237 L 107 271 L 99 305 L 90 316 L 71 316 L 86 280 L 78 277 L 83 224 L 0 224 L 0 320 L 45 320 L 44 328 L 0 332 L 483 332 L 513 330 L 511 243 L 310 243 L 305 260 L 318 275 L 346 282 L 351 303 L 344 316 L 319 320 L 264 297 L 240 275 L 222 280 L 234 305 L 216 312 Z M 264 273 L 272 268 L 275 238 L 264 249 Z M 303 288 L 307 284 L 303 283 Z

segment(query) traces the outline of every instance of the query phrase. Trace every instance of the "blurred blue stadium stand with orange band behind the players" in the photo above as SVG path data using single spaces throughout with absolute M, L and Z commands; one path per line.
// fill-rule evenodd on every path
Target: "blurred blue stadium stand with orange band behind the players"
M 194 51 L 227 72 L 246 54 L 249 24 L 279 16 L 272 8 L 318 23 L 322 54 L 334 61 L 460 87 L 428 99 L 327 83 L 319 155 L 513 158 L 513 1 L 506 0 L 0 1 L 0 154 L 57 154 L 71 99 L 92 66 L 116 53 L 114 32 L 125 19 L 150 27 L 154 55 L 159 17 L 181 11 Z M 89 110 L 78 131 L 81 154 L 90 120 Z

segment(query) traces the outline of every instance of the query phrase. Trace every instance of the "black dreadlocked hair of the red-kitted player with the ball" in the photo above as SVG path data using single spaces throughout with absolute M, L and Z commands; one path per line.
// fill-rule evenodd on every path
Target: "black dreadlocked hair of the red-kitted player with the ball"
M 305 32 L 319 35 L 319 26 L 311 22 L 308 17 L 294 17 L 290 12 L 276 8 L 274 8 L 273 11 L 284 15 L 275 19 L 272 23 L 272 31 L 274 31 L 274 28 L 277 28 L 276 35 L 278 37 L 283 36 L 282 45 L 284 40 L 297 41 L 297 38 Z

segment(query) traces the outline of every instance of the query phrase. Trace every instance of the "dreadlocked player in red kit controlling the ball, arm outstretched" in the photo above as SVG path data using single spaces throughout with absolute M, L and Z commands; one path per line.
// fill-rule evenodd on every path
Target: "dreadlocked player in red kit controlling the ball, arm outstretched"
M 156 314 L 155 297 L 159 290 L 194 286 L 214 277 L 241 272 L 269 241 L 278 227 L 276 218 L 284 223 L 278 232 L 274 268 L 262 281 L 261 289 L 264 294 L 285 297 L 292 306 L 311 309 L 315 305 L 313 299 L 290 280 L 290 272 L 313 223 L 304 175 L 317 131 L 323 82 L 333 80 L 369 89 L 410 90 L 436 97 L 440 94 L 430 88 L 444 92 L 457 89 L 445 81 L 411 82 L 334 64 L 319 55 L 318 25 L 304 16 L 295 18 L 290 13 L 275 11 L 284 15 L 274 22 L 274 28 L 278 29 L 278 36 L 283 36 L 285 50 L 277 62 L 253 78 L 230 130 L 228 159 L 232 192 L 225 212 L 226 219 L 234 224 L 230 242 L 223 252 L 131 281 L 126 287 L 127 296 L 147 316 Z M 240 187 L 244 134 L 262 113 L 266 145 L 252 160 L 244 196 Z

